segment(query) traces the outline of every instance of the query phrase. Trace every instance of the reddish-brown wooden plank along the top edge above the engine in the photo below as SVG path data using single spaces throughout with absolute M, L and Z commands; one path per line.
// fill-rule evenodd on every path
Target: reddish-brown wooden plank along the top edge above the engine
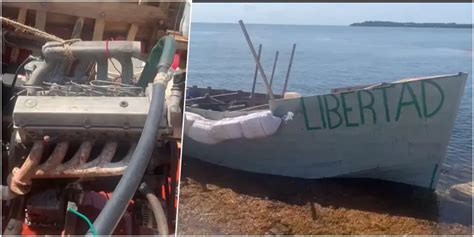
M 137 5 L 132 3 L 99 2 L 4 2 L 7 7 L 26 8 L 31 10 L 45 10 L 85 18 L 103 18 L 105 21 L 145 24 L 160 19 L 168 19 L 161 8 Z

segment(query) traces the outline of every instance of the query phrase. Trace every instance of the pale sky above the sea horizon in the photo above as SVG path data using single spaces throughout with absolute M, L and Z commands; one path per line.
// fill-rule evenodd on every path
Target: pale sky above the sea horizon
M 368 20 L 472 22 L 472 3 L 193 3 L 193 22 L 349 25 Z

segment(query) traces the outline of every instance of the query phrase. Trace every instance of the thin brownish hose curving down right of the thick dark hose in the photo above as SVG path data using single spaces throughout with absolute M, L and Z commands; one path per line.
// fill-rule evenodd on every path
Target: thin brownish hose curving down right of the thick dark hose
M 160 235 L 169 235 L 168 221 L 166 220 L 165 210 L 161 206 L 161 202 L 156 195 L 151 191 L 151 188 L 143 182 L 138 189 L 143 195 L 145 195 L 150 204 L 150 209 L 153 212 L 153 216 L 156 220 L 156 226 L 158 226 L 158 233 Z

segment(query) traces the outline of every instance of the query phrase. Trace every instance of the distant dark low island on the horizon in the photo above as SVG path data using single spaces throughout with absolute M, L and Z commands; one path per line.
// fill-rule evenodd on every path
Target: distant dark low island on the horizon
M 380 27 L 423 27 L 423 28 L 472 28 L 472 24 L 456 23 L 414 23 L 414 22 L 392 22 L 392 21 L 364 21 L 352 23 L 350 26 L 380 26 Z

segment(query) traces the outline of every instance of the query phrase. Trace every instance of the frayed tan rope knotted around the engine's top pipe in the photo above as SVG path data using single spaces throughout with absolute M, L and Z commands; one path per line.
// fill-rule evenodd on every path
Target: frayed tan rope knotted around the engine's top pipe
M 64 39 L 61 39 L 61 38 L 59 38 L 55 35 L 46 33 L 44 31 L 41 31 L 41 30 L 38 30 L 34 27 L 19 23 L 17 21 L 10 20 L 10 19 L 5 18 L 3 16 L 1 17 L 1 19 L 2 19 L 2 23 L 5 23 L 6 25 L 12 26 L 15 29 L 21 30 L 22 32 L 30 33 L 30 34 L 38 37 L 38 38 L 45 39 L 46 41 L 55 41 L 55 42 L 62 43 L 62 46 L 64 47 L 64 56 L 66 56 L 66 58 L 69 59 L 70 61 L 74 60 L 74 55 L 72 53 L 72 49 L 70 47 L 70 44 L 72 44 L 74 42 L 81 41 L 81 39 L 64 40 Z

